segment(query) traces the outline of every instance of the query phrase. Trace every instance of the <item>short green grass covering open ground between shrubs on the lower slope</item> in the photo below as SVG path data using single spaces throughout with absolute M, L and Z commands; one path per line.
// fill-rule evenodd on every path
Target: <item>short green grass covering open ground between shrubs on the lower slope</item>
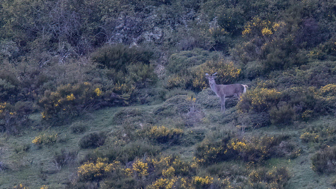
M 150 112 L 157 106 L 158 105 L 140 105 L 132 108 Z M 99 150 L 99 148 L 81 149 L 78 146 L 78 141 L 85 134 L 93 131 L 103 131 L 104 133 L 111 135 L 118 129 L 123 129 L 121 125 L 115 124 L 114 115 L 124 109 L 125 107 L 105 108 L 74 118 L 69 124 L 51 127 L 51 129 L 58 134 L 57 142 L 52 145 L 38 146 L 33 144 L 32 140 L 41 132 L 34 127 L 27 129 L 25 133 L 18 136 L 2 134 L 0 138 L 1 161 L 8 165 L 8 169 L 0 173 L 0 188 L 10 188 L 19 185 L 20 183 L 28 188 L 39 188 L 42 185 L 47 185 L 49 188 L 67 188 L 67 184 L 72 182 L 72 179 L 76 176 L 76 170 L 80 165 L 80 161 L 85 158 L 86 154 L 94 153 L 96 150 Z M 218 115 L 218 111 L 219 109 L 207 110 L 206 114 L 211 114 L 212 116 Z M 130 119 L 131 118 L 132 117 L 130 117 Z M 31 119 L 36 126 L 43 126 L 38 125 L 41 124 L 40 114 L 33 114 Z M 181 117 L 178 115 L 170 117 L 160 117 L 157 115 L 152 120 L 154 120 L 153 125 L 166 126 L 174 124 L 178 125 L 177 123 L 182 121 Z M 305 127 L 308 125 L 322 124 L 324 121 L 324 119 L 321 119 L 309 123 L 302 122 L 286 126 L 271 125 L 269 127 L 261 127 L 259 129 L 246 131 L 245 136 L 289 135 L 291 137 L 290 140 L 295 142 L 299 149 L 302 149 L 301 155 L 295 159 L 290 159 L 289 157 L 271 158 L 265 161 L 264 166 L 269 168 L 272 166 L 288 167 L 291 178 L 285 188 L 329 188 L 336 175 L 319 175 L 313 172 L 310 168 L 311 162 L 309 157 L 316 150 L 311 149 L 309 144 L 304 143 L 299 139 L 300 134 Z M 76 122 L 83 123 L 86 127 L 86 131 L 83 133 L 72 133 L 70 127 Z M 138 125 L 139 123 L 135 122 L 134 124 Z M 184 161 L 192 161 L 195 146 L 202 141 L 207 133 L 220 128 L 238 130 L 232 123 L 220 124 L 212 119 L 205 119 L 198 123 L 198 125 L 183 128 L 184 139 L 181 144 L 154 145 L 162 147 L 161 153 L 179 155 Z M 25 146 L 29 147 L 28 150 L 24 149 Z M 57 167 L 53 163 L 53 155 L 63 148 L 78 151 L 78 155 L 76 156 L 74 163 L 66 164 L 57 170 Z M 222 167 L 222 169 L 227 169 L 229 167 L 228 164 L 231 164 L 230 166 L 234 164 L 246 166 L 246 163 L 240 161 L 221 162 L 218 166 Z M 209 166 L 207 170 L 208 171 L 200 172 L 200 174 L 206 175 L 206 173 L 218 172 L 215 167 L 211 166 Z M 220 170 L 220 172 L 225 172 L 225 170 Z

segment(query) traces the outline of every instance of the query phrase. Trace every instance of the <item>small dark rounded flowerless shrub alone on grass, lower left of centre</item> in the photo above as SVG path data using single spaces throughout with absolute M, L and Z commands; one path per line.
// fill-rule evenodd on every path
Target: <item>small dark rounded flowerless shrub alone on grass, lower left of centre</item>
M 106 135 L 104 133 L 90 133 L 82 137 L 78 144 L 81 148 L 97 148 L 104 144 Z

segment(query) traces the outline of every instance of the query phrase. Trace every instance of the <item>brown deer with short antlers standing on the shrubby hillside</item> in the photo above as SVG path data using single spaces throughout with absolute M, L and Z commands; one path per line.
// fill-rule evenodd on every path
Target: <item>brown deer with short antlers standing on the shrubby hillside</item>
M 206 73 L 205 78 L 209 79 L 212 91 L 220 98 L 220 110 L 225 111 L 225 97 L 237 97 L 239 100 L 241 94 L 246 92 L 248 86 L 243 84 L 217 85 L 215 82 L 216 74 L 217 72 L 210 76 Z

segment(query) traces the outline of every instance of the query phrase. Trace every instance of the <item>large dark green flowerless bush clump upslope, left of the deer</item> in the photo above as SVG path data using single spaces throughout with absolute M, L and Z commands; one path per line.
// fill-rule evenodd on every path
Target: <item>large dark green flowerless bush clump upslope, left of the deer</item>
M 113 92 L 136 98 L 137 88 L 154 84 L 157 76 L 151 60 L 154 52 L 141 47 L 128 47 L 122 44 L 107 45 L 92 53 L 91 59 L 98 63 L 106 76 L 111 79 Z

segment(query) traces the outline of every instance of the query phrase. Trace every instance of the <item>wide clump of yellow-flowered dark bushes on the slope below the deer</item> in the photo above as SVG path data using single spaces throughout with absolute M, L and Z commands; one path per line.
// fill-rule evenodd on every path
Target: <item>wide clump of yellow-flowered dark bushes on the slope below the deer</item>
M 232 158 L 262 163 L 265 159 L 282 154 L 278 148 L 285 138 L 286 136 L 239 138 L 228 132 L 211 134 L 197 146 L 194 165 L 211 164 Z

